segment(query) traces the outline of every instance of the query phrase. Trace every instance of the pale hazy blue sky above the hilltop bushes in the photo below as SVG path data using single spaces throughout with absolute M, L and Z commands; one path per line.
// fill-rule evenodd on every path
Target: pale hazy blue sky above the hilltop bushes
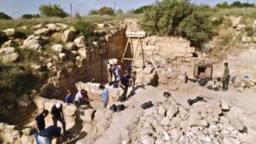
M 207 3 L 214 6 L 216 3 L 237 0 L 190 0 L 192 3 Z M 0 0 L 0 12 L 9 14 L 14 19 L 20 18 L 22 14 L 39 14 L 38 8 L 41 4 L 60 4 L 66 12 L 70 12 L 70 3 L 73 4 L 73 14 L 88 14 L 90 9 L 100 9 L 103 6 L 113 7 L 124 11 L 137 9 L 143 5 L 154 3 L 155 0 Z M 247 0 L 240 0 L 246 3 Z M 256 3 L 256 0 L 249 0 L 249 3 Z

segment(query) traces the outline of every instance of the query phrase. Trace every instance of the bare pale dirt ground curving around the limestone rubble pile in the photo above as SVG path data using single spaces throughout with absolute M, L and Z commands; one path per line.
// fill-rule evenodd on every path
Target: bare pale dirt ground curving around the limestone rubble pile
M 127 108 L 125 108 L 125 111 L 113 114 L 108 130 L 94 142 L 95 144 L 120 144 L 122 141 L 124 142 L 125 138 L 129 135 L 129 130 L 136 126 L 138 118 L 143 113 L 143 109 L 140 107 L 143 102 L 152 101 L 156 103 L 166 101 L 166 98 L 163 96 L 163 93 L 166 91 L 165 89 L 137 85 L 133 91 L 129 90 L 131 97 L 129 101 L 123 103 Z M 187 100 L 194 99 L 196 96 L 202 96 L 208 102 L 220 101 L 221 99 L 229 100 L 230 106 L 241 107 L 249 113 L 249 118 L 253 118 L 256 121 L 256 109 L 254 108 L 256 97 L 252 91 L 246 90 L 241 93 L 236 91 L 236 89 L 230 88 L 226 92 L 216 92 L 207 89 L 206 86 L 201 87 L 198 84 L 189 82 L 188 84 L 183 84 L 179 91 L 172 92 L 172 98 L 183 107 L 189 107 Z M 102 108 L 100 102 L 92 103 L 92 105 L 93 107 Z M 83 143 L 83 140 L 80 140 L 78 143 Z

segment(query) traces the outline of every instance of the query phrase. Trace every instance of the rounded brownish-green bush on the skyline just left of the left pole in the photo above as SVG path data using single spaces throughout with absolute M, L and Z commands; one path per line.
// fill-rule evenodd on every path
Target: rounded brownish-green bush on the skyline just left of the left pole
M 47 4 L 43 4 L 39 7 L 40 10 L 40 14 L 44 15 L 46 17 L 66 17 L 68 14 L 60 8 L 60 5 L 47 5 Z

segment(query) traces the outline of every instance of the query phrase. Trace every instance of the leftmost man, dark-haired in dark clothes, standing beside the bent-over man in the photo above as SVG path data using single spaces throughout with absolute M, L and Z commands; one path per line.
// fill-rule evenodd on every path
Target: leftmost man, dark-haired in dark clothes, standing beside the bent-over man
M 44 118 L 47 117 L 48 113 L 49 113 L 48 110 L 44 110 L 43 112 L 41 112 L 40 114 L 38 114 L 38 116 L 35 118 L 35 120 L 34 120 L 34 122 L 33 122 L 33 126 L 34 126 L 33 133 L 34 133 L 34 136 L 35 136 L 35 139 L 36 139 L 37 144 L 39 144 L 39 141 L 38 141 L 38 133 L 39 133 L 41 130 L 44 130 L 44 129 L 45 129 L 45 121 L 44 121 Z

